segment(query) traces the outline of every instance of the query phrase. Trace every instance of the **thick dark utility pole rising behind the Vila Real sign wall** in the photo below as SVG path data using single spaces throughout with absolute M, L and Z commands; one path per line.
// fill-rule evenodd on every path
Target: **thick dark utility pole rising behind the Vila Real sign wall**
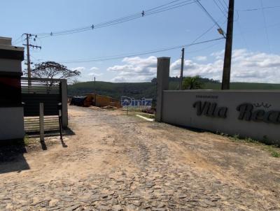
M 228 28 L 225 41 L 225 58 L 223 62 L 223 82 L 222 89 L 230 89 L 230 68 L 232 65 L 232 34 L 235 15 L 235 0 L 228 3 Z

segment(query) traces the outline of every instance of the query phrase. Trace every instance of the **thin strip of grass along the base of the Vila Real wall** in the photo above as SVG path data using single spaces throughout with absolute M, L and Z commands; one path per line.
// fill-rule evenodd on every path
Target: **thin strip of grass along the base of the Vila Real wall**
M 259 145 L 262 150 L 265 150 L 271 154 L 272 157 L 280 157 L 280 148 L 276 145 L 267 145 L 265 143 L 260 143 L 258 140 L 254 140 L 253 138 L 241 138 L 239 135 L 235 136 L 228 136 L 225 134 L 220 133 L 222 136 L 227 136 L 230 140 L 239 142 L 239 143 L 253 143 L 255 145 Z M 267 142 L 267 139 L 264 140 Z

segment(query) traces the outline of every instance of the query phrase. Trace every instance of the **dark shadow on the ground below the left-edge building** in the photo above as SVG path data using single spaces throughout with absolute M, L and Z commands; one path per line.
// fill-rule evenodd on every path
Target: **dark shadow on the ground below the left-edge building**
M 23 154 L 27 152 L 24 140 L 6 140 L 0 143 L 0 174 L 29 170 Z

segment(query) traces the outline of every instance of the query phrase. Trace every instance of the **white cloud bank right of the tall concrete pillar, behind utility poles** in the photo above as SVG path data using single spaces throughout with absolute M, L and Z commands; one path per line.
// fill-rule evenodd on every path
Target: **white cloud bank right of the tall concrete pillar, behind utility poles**
M 224 51 L 211 54 L 214 61 L 208 64 L 198 64 L 186 60 L 184 75 L 201 75 L 205 78 L 221 80 L 223 74 Z M 179 75 L 181 60 L 174 61 L 170 72 L 172 76 Z M 231 79 L 235 82 L 275 82 L 280 78 L 280 55 L 264 52 L 251 52 L 237 49 L 232 52 Z

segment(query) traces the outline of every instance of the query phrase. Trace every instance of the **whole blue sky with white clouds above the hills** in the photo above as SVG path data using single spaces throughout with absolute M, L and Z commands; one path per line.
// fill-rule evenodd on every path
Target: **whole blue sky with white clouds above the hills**
M 12 37 L 14 43 L 20 46 L 20 36 L 23 33 L 41 34 L 86 27 L 141 13 L 142 10 L 170 1 L 172 0 L 3 1 L 0 8 L 0 36 Z M 214 0 L 200 2 L 226 30 L 226 18 Z M 219 4 L 228 0 L 216 2 Z M 238 13 L 235 13 L 232 81 L 279 83 L 280 46 L 277 38 L 280 32 L 280 7 L 266 8 L 263 11 L 242 11 L 261 8 L 262 5 L 265 8 L 280 6 L 280 2 L 235 0 L 235 10 Z M 47 60 L 73 61 L 183 45 L 192 43 L 213 24 L 197 3 L 192 3 L 111 27 L 37 39 L 34 44 L 41 45 L 42 50 L 32 50 L 31 59 L 34 63 Z M 216 29 L 217 27 L 211 29 L 199 41 L 220 38 Z M 186 48 L 185 75 L 202 75 L 221 80 L 224 47 L 225 41 L 221 40 Z M 82 73 L 78 78 L 80 81 L 92 80 L 94 75 L 97 80 L 141 82 L 155 77 L 156 57 L 162 56 L 172 58 L 170 74 L 179 75 L 181 49 L 109 61 L 62 64 L 78 68 Z

